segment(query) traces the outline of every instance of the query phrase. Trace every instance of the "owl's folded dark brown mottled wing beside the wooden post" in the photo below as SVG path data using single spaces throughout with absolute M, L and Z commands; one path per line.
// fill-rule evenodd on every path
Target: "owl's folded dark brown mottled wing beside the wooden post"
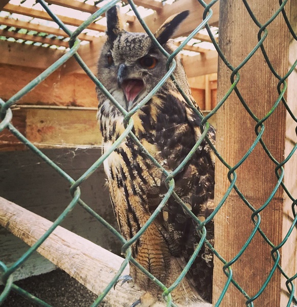
M 168 170 L 173 171 L 186 158 L 196 141 L 201 136 L 199 128 L 201 119 L 176 92 L 159 94 L 162 100 L 156 110 L 155 140 L 159 148 L 159 157 Z M 152 103 L 153 105 L 153 103 Z M 210 127 L 209 139 L 214 142 L 215 130 Z M 174 177 L 174 191 L 187 207 L 204 221 L 213 211 L 214 199 L 214 153 L 209 144 L 203 140 L 192 158 L 184 168 Z M 154 195 L 154 200 L 161 200 L 167 188 L 164 180 Z M 155 205 L 151 207 L 153 210 Z M 170 197 L 163 208 L 160 227 L 164 239 L 170 246 L 171 253 L 184 264 L 189 260 L 197 247 L 200 237 L 196 231 L 196 223 L 188 213 Z M 206 226 L 207 239 L 213 244 L 214 225 L 210 222 Z M 213 254 L 204 244 L 196 257 L 190 274 L 199 294 L 211 299 Z

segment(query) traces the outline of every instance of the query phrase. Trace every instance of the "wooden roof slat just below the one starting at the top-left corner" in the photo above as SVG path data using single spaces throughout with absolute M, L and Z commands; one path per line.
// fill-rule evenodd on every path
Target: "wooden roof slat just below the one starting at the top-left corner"
M 32 23 L 28 23 L 27 21 L 16 20 L 12 18 L 0 17 L 0 25 L 5 25 L 8 27 L 15 27 L 20 29 L 27 29 L 37 32 L 44 32 L 49 34 L 54 34 L 57 36 L 68 37 L 68 35 L 61 29 L 55 29 L 48 26 L 36 25 Z M 78 36 L 81 40 L 93 41 L 94 36 L 90 36 L 87 34 L 80 34 Z

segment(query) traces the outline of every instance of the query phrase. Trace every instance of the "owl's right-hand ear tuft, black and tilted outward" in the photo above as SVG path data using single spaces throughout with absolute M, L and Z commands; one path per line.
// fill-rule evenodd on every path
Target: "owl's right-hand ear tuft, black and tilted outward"
M 157 41 L 164 45 L 167 40 L 173 35 L 177 27 L 185 18 L 188 17 L 189 11 L 183 11 L 169 17 L 165 23 L 156 31 L 155 38 Z

